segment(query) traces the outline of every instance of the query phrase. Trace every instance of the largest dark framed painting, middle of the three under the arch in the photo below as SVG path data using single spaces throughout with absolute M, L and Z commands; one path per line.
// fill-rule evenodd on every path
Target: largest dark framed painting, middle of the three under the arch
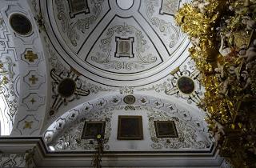
M 142 140 L 142 116 L 118 116 L 118 140 Z

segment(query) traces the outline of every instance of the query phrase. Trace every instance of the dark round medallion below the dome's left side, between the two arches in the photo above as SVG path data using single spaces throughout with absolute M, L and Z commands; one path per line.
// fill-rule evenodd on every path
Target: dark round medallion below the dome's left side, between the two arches
M 58 85 L 58 94 L 62 97 L 68 98 L 74 94 L 76 83 L 71 78 L 64 78 Z

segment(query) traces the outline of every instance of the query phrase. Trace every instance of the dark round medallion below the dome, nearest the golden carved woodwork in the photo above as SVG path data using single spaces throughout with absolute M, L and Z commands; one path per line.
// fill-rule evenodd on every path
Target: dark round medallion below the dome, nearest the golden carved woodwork
M 191 94 L 194 91 L 194 81 L 188 77 L 179 78 L 177 86 L 183 94 Z

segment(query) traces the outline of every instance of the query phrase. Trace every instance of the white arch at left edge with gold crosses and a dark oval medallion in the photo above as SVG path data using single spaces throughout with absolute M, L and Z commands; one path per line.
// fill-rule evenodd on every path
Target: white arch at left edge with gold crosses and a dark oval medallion
M 11 124 L 9 134 L 38 135 L 46 111 L 48 92 L 46 91 L 47 60 L 44 55 L 37 22 L 27 1 L 19 1 L 17 3 L 1 1 L 0 6 L 2 6 L 0 18 L 2 18 L 4 27 L 0 33 L 3 34 L 1 37 L 6 38 L 5 42 L 8 44 L 5 45 L 6 48 L 4 48 L 3 54 L 6 51 L 6 54 L 11 55 L 7 60 L 9 62 L 6 63 L 10 65 L 10 70 L 14 70 L 12 74 L 14 79 L 10 81 L 10 86 L 7 86 L 7 88 L 11 90 L 9 93 L 15 94 L 16 98 L 13 101 L 6 100 L 10 110 L 13 110 L 9 114 L 5 112 L 4 115 L 10 121 L 9 124 Z M 30 24 L 29 27 L 32 30 L 24 34 L 21 34 L 22 31 L 19 33 L 17 30 L 15 31 L 14 27 L 11 26 L 12 22 L 10 22 L 10 18 L 15 14 L 26 18 L 26 22 Z M 22 29 L 22 26 L 19 28 Z M 12 54 L 8 53 L 10 51 Z M 2 51 L 0 51 L 1 53 Z M 6 68 L 6 70 L 9 69 Z M 30 100 L 35 99 L 35 102 L 30 102 Z M 30 116 L 27 111 L 33 111 L 33 116 Z M 26 120 L 34 123 L 31 125 L 31 129 L 23 129 Z

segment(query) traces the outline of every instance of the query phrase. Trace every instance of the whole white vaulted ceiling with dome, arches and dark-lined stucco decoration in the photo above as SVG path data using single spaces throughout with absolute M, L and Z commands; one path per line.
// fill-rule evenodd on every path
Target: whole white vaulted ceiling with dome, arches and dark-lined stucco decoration
M 109 151 L 212 152 L 197 107 L 200 74 L 174 22 L 185 2 L 1 1 L 1 61 L 10 57 L 3 65 L 13 74 L 1 94 L 12 101 L 1 106 L 1 128 L 9 130 L 1 134 L 90 151 L 94 144 L 81 140 L 85 121 L 104 121 Z M 29 23 L 15 28 L 19 19 Z M 142 140 L 117 140 L 120 115 L 142 116 Z M 157 138 L 154 121 L 174 121 L 178 138 Z

